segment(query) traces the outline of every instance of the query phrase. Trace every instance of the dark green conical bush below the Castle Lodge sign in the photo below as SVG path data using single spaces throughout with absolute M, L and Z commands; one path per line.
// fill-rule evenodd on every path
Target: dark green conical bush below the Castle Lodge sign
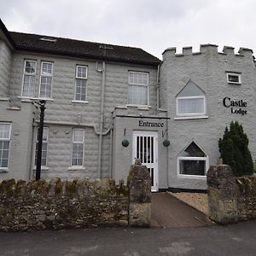
M 248 148 L 249 140 L 238 122 L 225 128 L 223 138 L 218 140 L 220 157 L 236 176 L 253 174 L 253 159 Z

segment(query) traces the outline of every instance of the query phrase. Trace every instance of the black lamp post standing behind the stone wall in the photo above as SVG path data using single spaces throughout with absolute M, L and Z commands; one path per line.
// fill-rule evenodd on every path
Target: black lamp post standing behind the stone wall
M 40 123 L 39 123 L 39 130 L 38 130 L 38 154 L 37 154 L 36 180 L 40 179 L 41 177 L 45 101 L 41 100 L 39 102 L 39 105 L 40 105 Z

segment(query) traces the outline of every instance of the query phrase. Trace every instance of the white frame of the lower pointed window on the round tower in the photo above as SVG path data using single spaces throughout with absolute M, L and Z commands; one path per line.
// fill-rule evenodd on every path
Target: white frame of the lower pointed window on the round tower
M 191 141 L 191 143 L 195 143 L 195 141 Z M 189 147 L 189 145 L 191 144 L 189 143 L 185 148 L 183 148 L 183 150 L 185 150 L 186 148 Z M 201 151 L 205 153 L 205 151 L 197 144 L 195 143 L 195 145 L 201 149 Z M 182 151 L 183 152 L 183 151 Z M 182 152 L 180 152 L 179 154 L 181 154 Z M 206 162 L 206 170 L 205 170 L 205 175 L 188 175 L 188 174 L 181 174 L 180 173 L 180 161 L 181 160 L 204 160 Z M 193 156 L 177 156 L 177 177 L 182 177 L 182 178 L 198 178 L 198 179 L 206 179 L 207 178 L 207 171 L 209 169 L 209 157 L 206 154 L 206 156 L 201 156 L 201 157 L 193 157 Z

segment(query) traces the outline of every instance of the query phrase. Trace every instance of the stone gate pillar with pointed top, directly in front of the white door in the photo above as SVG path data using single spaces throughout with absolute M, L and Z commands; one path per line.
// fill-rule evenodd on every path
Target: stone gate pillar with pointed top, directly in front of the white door
M 137 227 L 150 227 L 151 217 L 151 177 L 141 160 L 131 166 L 127 185 L 130 190 L 129 224 Z

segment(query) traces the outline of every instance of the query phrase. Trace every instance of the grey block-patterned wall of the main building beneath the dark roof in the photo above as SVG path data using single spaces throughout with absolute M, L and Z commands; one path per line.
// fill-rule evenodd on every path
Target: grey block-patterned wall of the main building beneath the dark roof
M 149 78 L 149 103 L 156 108 L 157 67 L 106 62 L 106 84 L 104 91 L 102 163 L 98 173 L 100 106 L 102 95 L 102 61 L 64 58 L 54 55 L 35 55 L 14 53 L 9 83 L 11 101 L 20 100 L 24 60 L 36 60 L 36 93 L 38 94 L 41 61 L 53 62 L 52 101 L 47 101 L 44 125 L 49 127 L 47 167 L 42 168 L 42 177 L 102 177 L 111 175 L 110 129 L 113 128 L 112 112 L 116 106 L 126 106 L 128 91 L 128 71 L 147 72 Z M 74 102 L 76 65 L 88 67 L 87 101 Z M 38 118 L 35 118 L 38 121 Z M 84 129 L 84 168 L 72 169 L 72 131 Z M 36 129 L 36 128 L 35 128 Z M 35 132 L 34 132 L 35 134 Z M 13 135 L 12 135 L 13 136 Z M 35 141 L 35 137 L 34 137 Z M 33 148 L 34 151 L 35 148 Z M 19 162 L 19 155 L 16 161 Z M 34 156 L 32 155 L 32 158 Z M 131 165 L 131 161 L 129 163 Z M 23 176 L 20 176 L 23 178 Z M 125 177 L 124 177 L 125 178 Z

